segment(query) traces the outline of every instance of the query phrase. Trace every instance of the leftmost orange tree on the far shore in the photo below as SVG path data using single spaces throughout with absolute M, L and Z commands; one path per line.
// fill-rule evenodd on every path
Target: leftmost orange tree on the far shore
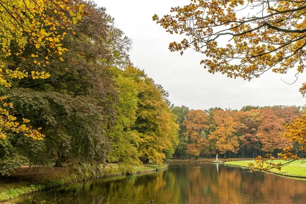
M 207 114 L 202 110 L 190 110 L 183 125 L 186 126 L 184 135 L 188 137 L 189 143 L 187 145 L 187 153 L 197 158 L 208 145 L 208 139 L 202 135 L 202 132 L 208 127 Z

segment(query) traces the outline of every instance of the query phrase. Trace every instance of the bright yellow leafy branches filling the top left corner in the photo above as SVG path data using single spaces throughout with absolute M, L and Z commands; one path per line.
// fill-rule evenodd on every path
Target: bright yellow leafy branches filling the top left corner
M 84 7 L 69 0 L 0 1 L 0 30 L 4 34 L 0 40 L 1 51 L 6 56 L 18 56 L 31 44 L 38 55 L 46 56 L 51 50 L 61 55 L 67 51 L 60 45 L 66 33 L 58 33 L 57 29 L 71 30 L 71 25 L 77 24 L 85 14 Z M 12 49 L 12 44 L 18 48 Z

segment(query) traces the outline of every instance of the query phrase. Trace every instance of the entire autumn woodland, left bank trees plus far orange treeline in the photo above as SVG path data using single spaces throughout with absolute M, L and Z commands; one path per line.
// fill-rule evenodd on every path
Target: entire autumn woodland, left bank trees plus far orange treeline
M 172 157 L 254 158 L 299 149 L 283 135 L 303 107 L 171 105 L 162 85 L 131 62 L 132 40 L 106 8 L 26 0 L 1 4 L 0 15 L 3 175 L 23 164 L 94 175 L 107 163 L 127 171 Z

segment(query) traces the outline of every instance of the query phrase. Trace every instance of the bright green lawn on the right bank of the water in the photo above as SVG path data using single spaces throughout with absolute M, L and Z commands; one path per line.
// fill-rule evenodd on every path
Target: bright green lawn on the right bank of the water
M 248 164 L 252 163 L 252 162 L 253 162 L 252 160 L 249 160 L 249 161 L 231 161 L 231 162 L 226 162 L 224 164 L 248 168 Z M 274 160 L 274 162 L 275 163 L 278 163 L 278 162 L 286 163 L 287 161 Z M 282 176 L 296 177 L 298 179 L 306 179 L 306 163 L 302 163 L 302 160 L 294 161 L 294 162 L 290 163 L 288 166 L 282 167 L 281 171 L 279 171 L 277 169 L 271 169 L 270 173 L 273 173 L 273 174 L 276 174 L 276 175 L 282 175 Z

